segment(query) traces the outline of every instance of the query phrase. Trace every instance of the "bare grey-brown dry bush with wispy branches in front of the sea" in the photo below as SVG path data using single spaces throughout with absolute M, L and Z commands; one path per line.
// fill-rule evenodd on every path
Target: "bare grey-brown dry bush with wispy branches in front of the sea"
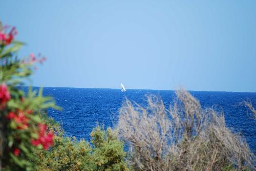
M 166 109 L 156 96 L 143 108 L 126 100 L 117 131 L 130 145 L 133 170 L 255 169 L 245 140 L 225 126 L 222 113 L 201 108 L 187 91 Z

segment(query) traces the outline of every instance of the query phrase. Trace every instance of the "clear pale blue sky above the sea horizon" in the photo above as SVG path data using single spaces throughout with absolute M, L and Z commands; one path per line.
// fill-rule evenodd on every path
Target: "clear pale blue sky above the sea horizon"
M 33 86 L 256 92 L 256 1 L 0 1 Z

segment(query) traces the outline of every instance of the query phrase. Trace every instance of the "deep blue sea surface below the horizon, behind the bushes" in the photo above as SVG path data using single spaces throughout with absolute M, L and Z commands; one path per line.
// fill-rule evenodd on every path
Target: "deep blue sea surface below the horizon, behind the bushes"
M 36 87 L 34 87 L 37 89 Z M 24 88 L 27 89 L 26 87 Z M 255 92 L 211 92 L 190 91 L 203 108 L 214 107 L 223 111 L 226 125 L 233 131 L 242 133 L 251 151 L 256 154 L 256 120 L 252 112 L 241 102 L 250 100 L 256 107 Z M 61 111 L 48 110 L 48 115 L 58 121 L 68 136 L 90 140 L 90 133 L 97 123 L 104 127 L 114 127 L 118 120 L 118 110 L 125 98 L 146 105 L 146 94 L 155 94 L 169 107 L 175 92 L 171 90 L 98 89 L 44 87 L 44 95 L 53 96 Z

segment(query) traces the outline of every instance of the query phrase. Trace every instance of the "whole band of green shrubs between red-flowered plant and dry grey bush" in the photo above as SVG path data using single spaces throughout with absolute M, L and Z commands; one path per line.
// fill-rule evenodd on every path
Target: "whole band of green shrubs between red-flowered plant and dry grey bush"
M 37 150 L 34 160 L 39 170 L 127 170 L 123 144 L 111 129 L 96 127 L 91 143 L 64 135 L 57 123 L 48 123 L 54 131 L 54 143 L 49 151 Z

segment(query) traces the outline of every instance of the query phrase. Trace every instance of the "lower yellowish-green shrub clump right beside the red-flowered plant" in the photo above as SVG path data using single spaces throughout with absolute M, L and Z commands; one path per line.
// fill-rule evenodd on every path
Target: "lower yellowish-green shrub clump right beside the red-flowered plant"
M 89 143 L 64 136 L 64 131 L 53 119 L 46 120 L 50 130 L 54 131 L 54 143 L 48 151 L 37 149 L 34 162 L 39 170 L 80 170 L 83 159 L 90 157 Z

